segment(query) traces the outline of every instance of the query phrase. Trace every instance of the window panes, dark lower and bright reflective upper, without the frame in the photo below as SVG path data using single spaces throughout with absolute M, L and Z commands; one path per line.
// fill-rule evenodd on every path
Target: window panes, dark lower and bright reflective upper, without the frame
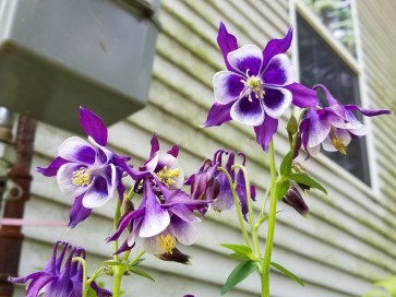
M 352 28 L 351 22 L 347 24 L 348 29 L 344 29 L 344 33 L 340 33 L 339 31 L 337 33 L 337 29 L 335 28 L 340 27 L 338 23 L 340 21 L 344 22 L 345 19 L 341 17 L 346 17 L 345 15 L 348 14 L 345 11 L 343 13 L 331 13 L 328 7 L 327 10 L 323 9 L 325 3 L 338 3 L 339 8 L 346 9 L 346 3 L 349 3 L 349 1 L 304 0 L 304 2 L 310 2 L 312 4 L 310 7 L 316 8 L 315 14 L 320 16 L 319 20 L 326 20 L 324 25 L 326 27 L 329 27 L 331 31 L 333 28 L 333 37 L 331 37 L 329 41 L 334 41 L 337 44 L 337 46 L 339 46 L 339 41 L 347 40 L 345 43 L 346 46 L 348 46 L 348 50 L 344 49 L 347 55 L 345 55 L 343 51 L 338 52 L 338 50 L 335 50 L 334 47 L 331 46 L 331 44 L 327 41 L 328 36 L 327 38 L 324 38 L 320 33 L 321 31 L 315 29 L 314 26 L 311 25 L 308 17 L 312 16 L 303 16 L 301 10 L 298 10 L 298 59 L 301 83 L 308 86 L 313 86 L 319 83 L 324 84 L 332 92 L 334 97 L 340 100 L 343 104 L 361 105 L 359 91 L 359 74 L 356 69 L 351 68 L 345 61 L 346 59 L 355 60 L 353 56 L 356 49 L 353 34 L 350 32 L 350 29 Z M 349 21 L 351 21 L 350 13 Z M 352 36 L 353 40 L 349 37 L 346 37 L 348 34 Z M 339 41 L 337 41 L 337 38 L 339 38 Z M 347 58 L 345 58 L 345 56 L 347 56 Z M 319 95 L 321 96 L 323 94 Z M 364 138 L 353 140 L 347 146 L 347 156 L 338 153 L 323 153 L 335 163 L 344 167 L 347 171 L 370 186 L 370 170 L 368 163 L 367 143 Z

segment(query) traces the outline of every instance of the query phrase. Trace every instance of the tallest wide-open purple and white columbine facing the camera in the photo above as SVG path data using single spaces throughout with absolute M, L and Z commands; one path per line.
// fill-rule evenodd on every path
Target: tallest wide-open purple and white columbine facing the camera
M 203 127 L 219 126 L 231 119 L 253 126 L 256 141 L 267 151 L 278 119 L 291 105 L 315 106 L 316 94 L 295 82 L 291 62 L 285 52 L 292 38 L 272 39 L 262 51 L 254 45 L 238 48 L 237 38 L 220 23 L 217 43 L 227 71 L 213 79 L 215 104 Z

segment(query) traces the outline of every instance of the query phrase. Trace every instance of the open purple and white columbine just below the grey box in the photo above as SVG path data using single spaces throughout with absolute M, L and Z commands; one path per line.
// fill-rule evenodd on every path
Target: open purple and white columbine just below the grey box
M 122 198 L 122 168 L 129 159 L 106 147 L 107 128 L 100 117 L 81 107 L 80 122 L 89 143 L 77 136 L 67 139 L 58 148 L 59 157 L 47 168 L 37 168 L 44 176 L 56 176 L 60 190 L 75 199 L 71 227 L 88 217 L 92 209 L 106 204 L 116 189 Z

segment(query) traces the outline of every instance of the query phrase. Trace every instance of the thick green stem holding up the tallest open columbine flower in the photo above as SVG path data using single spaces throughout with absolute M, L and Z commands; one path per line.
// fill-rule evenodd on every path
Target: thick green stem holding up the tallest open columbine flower
M 276 204 L 278 201 L 278 183 L 277 173 L 275 165 L 275 150 L 274 140 L 269 143 L 269 155 L 271 155 L 271 205 L 268 214 L 268 228 L 265 243 L 265 253 L 261 270 L 262 278 L 262 297 L 269 297 L 269 265 L 271 257 L 273 252 L 274 235 L 275 235 L 275 222 L 276 222 Z

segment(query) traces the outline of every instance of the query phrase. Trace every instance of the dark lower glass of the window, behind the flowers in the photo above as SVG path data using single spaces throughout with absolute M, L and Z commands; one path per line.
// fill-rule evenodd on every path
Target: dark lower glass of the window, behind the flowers
M 360 105 L 357 74 L 300 15 L 297 15 L 297 26 L 301 83 L 307 86 L 324 84 L 340 103 Z M 364 138 L 352 140 L 346 151 L 346 156 L 340 153 L 323 153 L 370 186 Z

